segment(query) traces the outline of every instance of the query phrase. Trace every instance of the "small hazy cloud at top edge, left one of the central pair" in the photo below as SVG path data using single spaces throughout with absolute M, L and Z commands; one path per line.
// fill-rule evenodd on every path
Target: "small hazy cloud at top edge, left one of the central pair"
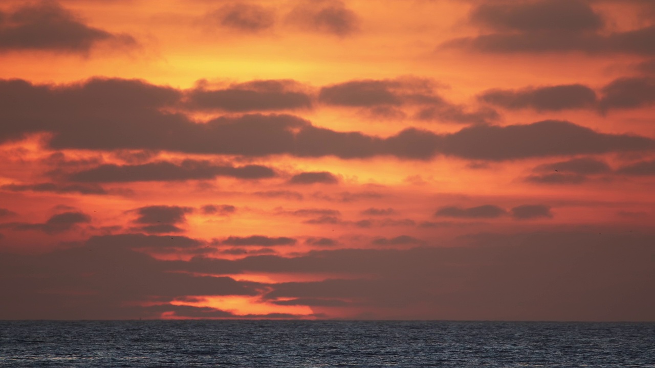
M 256 4 L 232 3 L 208 13 L 205 21 L 225 28 L 245 32 L 260 32 L 272 28 L 274 10 Z

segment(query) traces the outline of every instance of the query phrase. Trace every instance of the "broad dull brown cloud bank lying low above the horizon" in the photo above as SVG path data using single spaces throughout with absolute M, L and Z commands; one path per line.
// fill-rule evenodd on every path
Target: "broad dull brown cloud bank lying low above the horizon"
M 198 245 L 179 238 L 187 246 Z M 0 303 L 0 318 L 131 319 L 178 310 L 164 304 L 168 301 L 257 295 L 263 289 L 271 303 L 342 301 L 324 305 L 357 306 L 370 310 L 371 318 L 400 316 L 375 314 L 379 310 L 440 320 L 655 318 L 650 293 L 655 282 L 652 234 L 528 232 L 478 234 L 467 241 L 466 247 L 331 249 L 298 257 L 159 261 L 138 248 L 167 246 L 172 241 L 166 236 L 95 237 L 78 248 L 44 255 L 3 254 L 0 292 L 13 303 Z M 348 278 L 261 285 L 195 276 L 246 271 L 319 272 Z M 139 306 L 152 301 L 161 304 Z M 426 308 L 413 314 L 409 307 L 417 304 Z M 204 312 L 224 316 L 209 309 L 189 311 L 193 316 Z

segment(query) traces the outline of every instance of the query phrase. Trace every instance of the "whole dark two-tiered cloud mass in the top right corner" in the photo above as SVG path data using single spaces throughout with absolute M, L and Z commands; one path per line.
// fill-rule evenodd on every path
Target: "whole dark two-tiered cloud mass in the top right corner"
M 603 20 L 582 0 L 483 3 L 472 10 L 470 20 L 495 33 L 453 39 L 441 47 L 499 53 L 655 54 L 650 42 L 655 26 L 603 32 Z

